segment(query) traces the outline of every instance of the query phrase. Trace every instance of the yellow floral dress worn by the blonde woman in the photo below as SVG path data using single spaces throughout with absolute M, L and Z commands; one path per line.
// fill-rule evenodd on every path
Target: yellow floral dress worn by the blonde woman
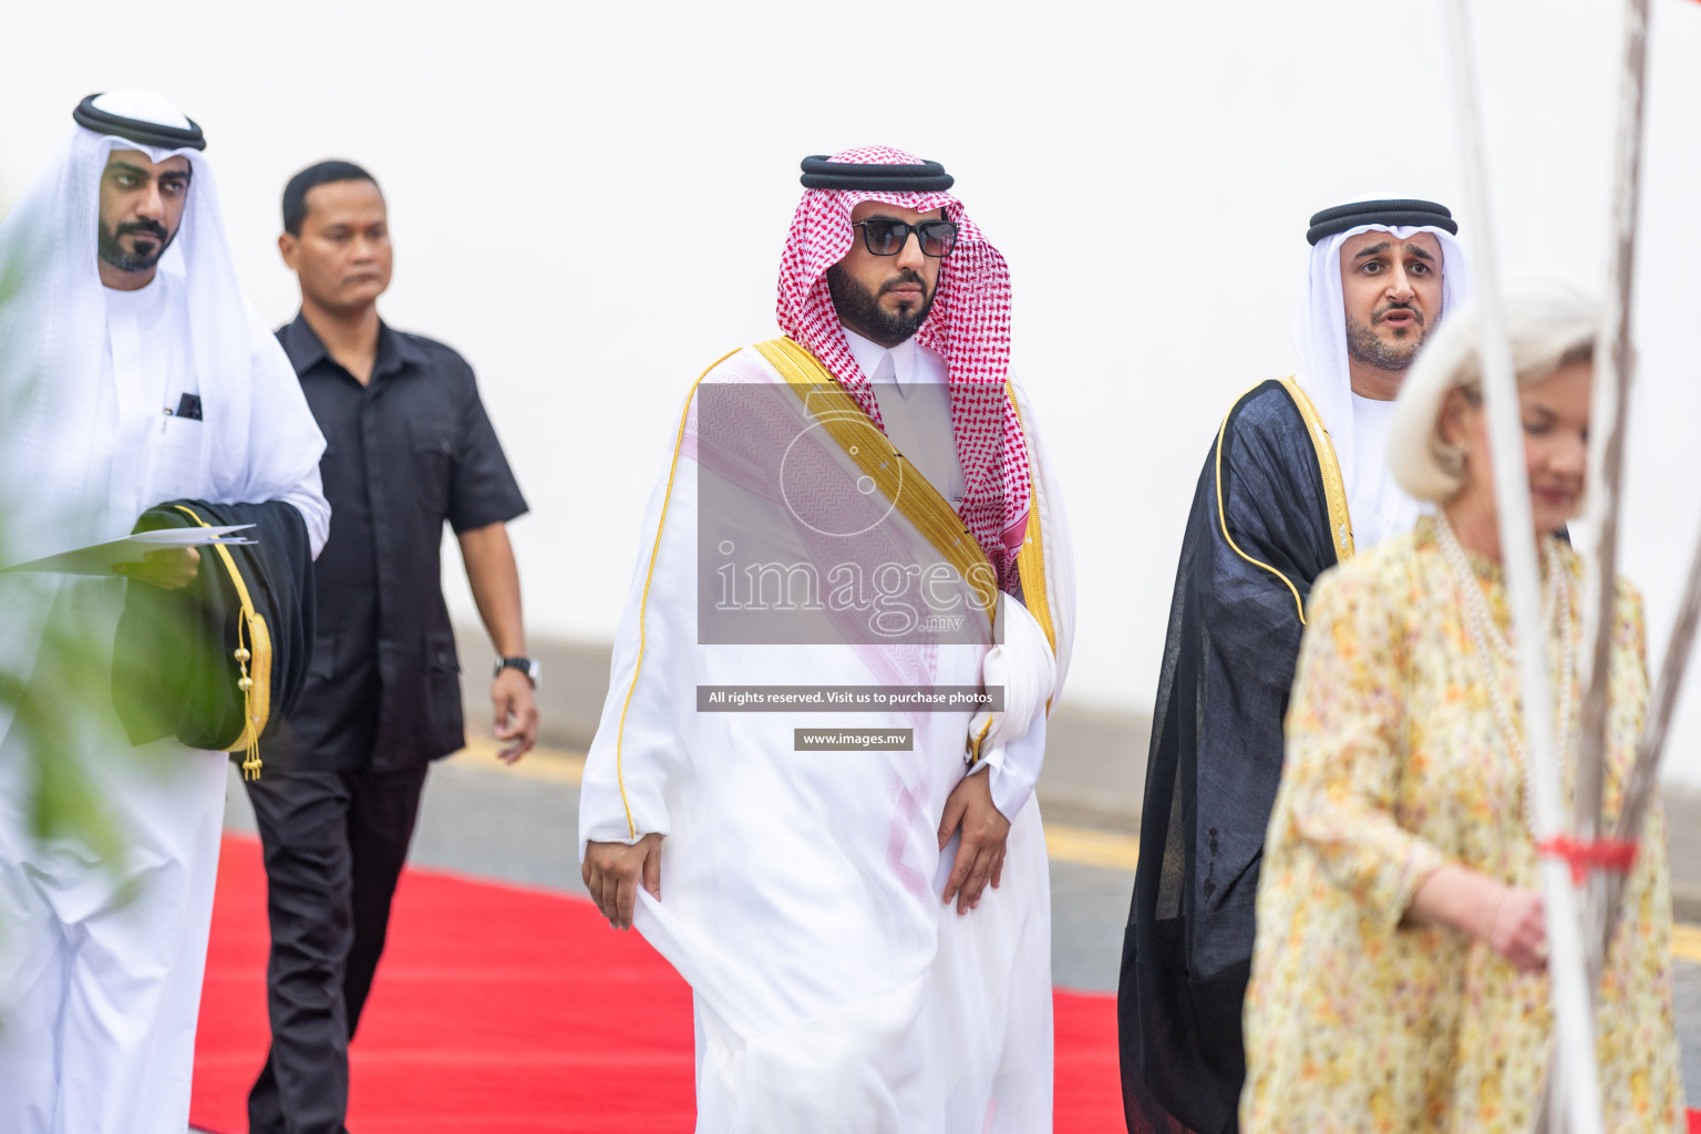
M 1507 632 L 1499 568 L 1471 563 Z M 1577 612 L 1582 568 L 1570 547 L 1562 563 Z M 1448 862 L 1539 884 L 1521 772 L 1453 578 L 1424 519 L 1311 592 L 1259 884 L 1245 1134 L 1529 1129 L 1553 1030 L 1546 976 L 1519 972 L 1456 930 L 1402 925 L 1417 886 Z M 1558 651 L 1548 653 L 1551 665 Z M 1516 714 L 1516 668 L 1493 665 Z M 1609 673 L 1611 821 L 1648 697 L 1641 598 L 1630 585 L 1618 593 Z M 1597 1015 L 1614 1134 L 1684 1129 L 1670 910 L 1655 809 Z

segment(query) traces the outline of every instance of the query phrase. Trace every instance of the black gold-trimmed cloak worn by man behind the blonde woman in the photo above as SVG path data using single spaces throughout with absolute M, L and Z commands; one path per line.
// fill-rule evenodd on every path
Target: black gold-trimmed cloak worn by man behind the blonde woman
M 1351 554 L 1317 410 L 1291 381 L 1255 386 L 1199 474 L 1163 641 L 1118 989 L 1131 1134 L 1238 1129 L 1240 1008 L 1303 604 Z

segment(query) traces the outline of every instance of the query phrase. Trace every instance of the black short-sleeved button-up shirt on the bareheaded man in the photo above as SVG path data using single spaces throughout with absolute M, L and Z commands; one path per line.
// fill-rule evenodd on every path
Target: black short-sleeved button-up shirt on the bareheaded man
M 526 512 L 526 498 L 473 369 L 449 347 L 379 325 L 362 386 L 306 318 L 277 340 L 325 434 L 332 529 L 315 564 L 318 636 L 306 687 L 264 757 L 321 772 L 417 767 L 466 743 L 442 524 L 459 534 L 507 522 Z

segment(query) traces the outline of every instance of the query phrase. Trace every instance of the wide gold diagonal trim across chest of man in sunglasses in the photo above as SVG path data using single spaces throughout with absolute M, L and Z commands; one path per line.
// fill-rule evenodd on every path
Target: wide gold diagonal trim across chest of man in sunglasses
M 789 338 L 769 338 L 755 349 L 903 519 L 968 580 L 990 622 L 998 612 L 998 573 L 956 508 L 898 452 L 813 354 Z

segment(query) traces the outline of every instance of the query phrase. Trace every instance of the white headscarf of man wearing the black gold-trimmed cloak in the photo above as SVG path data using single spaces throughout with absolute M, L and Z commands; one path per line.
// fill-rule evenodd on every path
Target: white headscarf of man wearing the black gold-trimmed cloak
M 1393 199 L 1388 194 L 1361 197 L 1363 202 L 1427 204 Z M 1431 206 L 1439 209 L 1439 206 Z M 1342 209 L 1328 209 L 1337 213 Z M 1459 241 L 1437 224 L 1400 224 L 1407 211 L 1390 209 L 1395 223 L 1376 223 L 1376 207 L 1366 206 L 1366 223 L 1322 236 L 1311 245 L 1310 274 L 1305 303 L 1300 306 L 1293 328 L 1293 345 L 1300 354 L 1298 381 L 1323 417 L 1328 437 L 1335 445 L 1335 459 L 1347 488 L 1347 513 L 1352 520 L 1354 544 L 1364 551 L 1388 536 L 1398 536 L 1417 522 L 1420 505 L 1388 474 L 1386 430 L 1363 428 L 1356 418 L 1352 377 L 1347 371 L 1347 313 L 1340 289 L 1340 245 L 1359 233 L 1385 231 L 1397 240 L 1417 233 L 1431 233 L 1441 243 L 1441 311 L 1434 315 L 1429 333 L 1442 316 L 1456 311 L 1471 294 L 1471 270 Z M 1318 213 L 1313 219 L 1325 216 Z M 1442 211 L 1444 213 L 1444 211 Z M 1410 218 L 1415 219 L 1415 218 Z M 1393 411 L 1393 403 L 1386 406 Z M 1364 434 L 1361 437 L 1359 434 Z

